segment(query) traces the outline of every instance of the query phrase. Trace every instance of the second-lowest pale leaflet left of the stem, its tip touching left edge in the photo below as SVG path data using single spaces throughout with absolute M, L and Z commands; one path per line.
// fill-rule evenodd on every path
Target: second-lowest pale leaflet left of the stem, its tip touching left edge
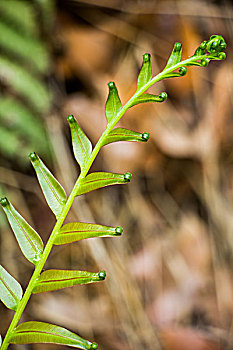
M 43 242 L 40 236 L 6 198 L 2 198 L 0 203 L 6 213 L 22 253 L 31 263 L 36 265 L 43 252 Z

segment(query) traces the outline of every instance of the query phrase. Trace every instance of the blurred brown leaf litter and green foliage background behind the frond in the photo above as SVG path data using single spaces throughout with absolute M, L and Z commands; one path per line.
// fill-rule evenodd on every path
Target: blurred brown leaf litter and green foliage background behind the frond
M 72 207 L 68 221 L 120 225 L 124 234 L 55 247 L 46 268 L 106 270 L 106 281 L 33 296 L 23 320 L 61 325 L 103 350 L 233 349 L 232 2 L 1 0 L 0 32 L 0 192 L 44 241 L 55 219 L 28 154 L 36 151 L 69 192 L 79 168 L 67 115 L 95 143 L 109 81 L 125 103 L 142 54 L 152 54 L 156 74 L 174 42 L 186 58 L 210 35 L 224 36 L 226 61 L 160 82 L 151 91 L 166 91 L 165 103 L 122 119 L 149 132 L 148 143 L 100 152 L 92 170 L 130 171 L 131 183 Z M 25 288 L 32 265 L 0 215 L 1 264 Z M 1 334 L 12 314 L 0 305 Z

